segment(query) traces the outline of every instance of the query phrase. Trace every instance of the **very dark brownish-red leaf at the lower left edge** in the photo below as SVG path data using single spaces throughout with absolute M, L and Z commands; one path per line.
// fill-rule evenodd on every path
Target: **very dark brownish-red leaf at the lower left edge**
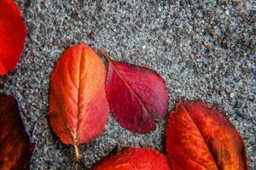
M 0 94 L 0 115 L 0 169 L 29 169 L 34 144 L 29 143 L 13 97 Z

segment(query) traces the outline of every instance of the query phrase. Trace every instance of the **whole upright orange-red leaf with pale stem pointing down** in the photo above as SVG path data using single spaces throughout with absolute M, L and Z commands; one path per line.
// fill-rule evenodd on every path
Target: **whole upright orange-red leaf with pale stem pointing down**
M 87 44 L 68 48 L 50 78 L 49 121 L 64 144 L 79 144 L 102 133 L 108 119 L 106 71 L 102 59 Z

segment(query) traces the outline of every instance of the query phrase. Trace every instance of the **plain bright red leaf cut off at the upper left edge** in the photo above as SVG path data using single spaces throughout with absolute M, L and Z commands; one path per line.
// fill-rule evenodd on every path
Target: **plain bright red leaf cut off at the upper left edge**
M 22 54 L 26 26 L 13 0 L 0 1 L 0 76 L 13 71 Z

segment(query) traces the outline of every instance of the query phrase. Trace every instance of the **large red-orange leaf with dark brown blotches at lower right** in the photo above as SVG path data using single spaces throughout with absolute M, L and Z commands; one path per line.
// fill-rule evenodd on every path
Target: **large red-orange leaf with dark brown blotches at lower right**
M 169 116 L 166 151 L 172 169 L 247 169 L 239 133 L 216 108 L 181 100 Z

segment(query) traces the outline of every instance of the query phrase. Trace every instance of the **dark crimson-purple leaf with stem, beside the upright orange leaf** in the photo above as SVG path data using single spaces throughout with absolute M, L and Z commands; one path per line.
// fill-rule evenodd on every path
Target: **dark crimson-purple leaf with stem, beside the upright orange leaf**
M 117 121 L 131 132 L 148 133 L 166 115 L 166 82 L 156 72 L 108 59 L 107 98 Z

